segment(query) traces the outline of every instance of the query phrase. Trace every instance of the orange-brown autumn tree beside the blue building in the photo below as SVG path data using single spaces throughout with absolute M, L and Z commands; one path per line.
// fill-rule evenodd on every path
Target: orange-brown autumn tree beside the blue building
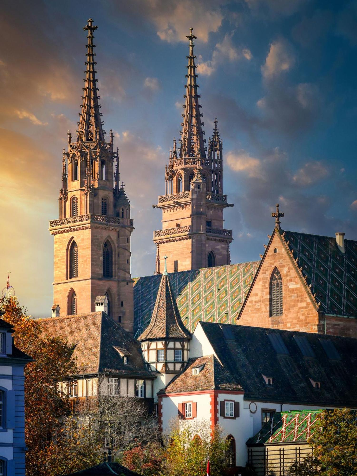
M 39 320 L 16 297 L 3 297 L 2 319 L 14 326 L 14 344 L 33 358 L 25 367 L 25 440 L 28 476 L 57 476 L 98 461 L 98 447 L 81 428 L 63 436 L 69 397 L 58 382 L 77 373 L 72 349 L 60 337 L 44 336 Z

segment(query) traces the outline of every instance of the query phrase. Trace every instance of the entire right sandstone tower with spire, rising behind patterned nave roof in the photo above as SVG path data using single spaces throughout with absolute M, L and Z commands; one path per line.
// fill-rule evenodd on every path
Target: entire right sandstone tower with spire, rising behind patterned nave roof
M 174 139 L 165 168 L 165 195 L 154 205 L 162 209 L 162 230 L 154 231 L 156 274 L 160 273 L 160 257 L 164 255 L 169 256 L 169 272 L 230 263 L 232 231 L 223 228 L 223 209 L 233 205 L 223 195 L 222 140 L 216 119 L 206 154 L 193 54 L 197 37 L 192 28 L 187 38 L 188 74 L 180 145 L 178 149 Z

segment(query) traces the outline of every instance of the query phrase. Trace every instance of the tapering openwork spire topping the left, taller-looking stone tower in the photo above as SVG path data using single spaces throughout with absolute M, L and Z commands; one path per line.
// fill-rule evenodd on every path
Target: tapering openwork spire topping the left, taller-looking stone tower
M 93 45 L 93 31 L 97 30 L 97 26 L 93 25 L 93 20 L 89 18 L 87 25 L 83 30 L 88 31 L 88 44 L 87 44 L 87 61 L 86 65 L 86 77 L 83 79 L 85 86 L 83 88 L 83 104 L 81 106 L 82 110 L 79 113 L 79 128 L 77 131 L 77 141 L 80 139 L 82 141 L 88 140 L 102 140 L 104 141 L 104 133 L 102 128 L 101 121 L 101 112 L 99 112 L 100 104 L 98 99 L 100 97 L 97 95 L 97 81 L 95 75 L 97 71 L 94 69 L 94 66 L 97 64 L 94 61 L 96 54 L 93 52 L 95 45 Z

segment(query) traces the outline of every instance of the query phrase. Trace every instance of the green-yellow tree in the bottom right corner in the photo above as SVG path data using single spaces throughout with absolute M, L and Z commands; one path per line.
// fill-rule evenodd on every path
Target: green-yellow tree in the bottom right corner
M 356 411 L 348 408 L 324 410 L 317 417 L 309 438 L 320 464 L 321 476 L 357 475 Z

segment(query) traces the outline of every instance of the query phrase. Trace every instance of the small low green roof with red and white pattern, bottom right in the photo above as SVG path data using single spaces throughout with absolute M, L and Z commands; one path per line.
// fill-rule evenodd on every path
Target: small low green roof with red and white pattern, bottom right
M 317 417 L 322 410 L 278 412 L 257 435 L 249 438 L 248 446 L 278 443 L 302 443 L 316 431 Z

